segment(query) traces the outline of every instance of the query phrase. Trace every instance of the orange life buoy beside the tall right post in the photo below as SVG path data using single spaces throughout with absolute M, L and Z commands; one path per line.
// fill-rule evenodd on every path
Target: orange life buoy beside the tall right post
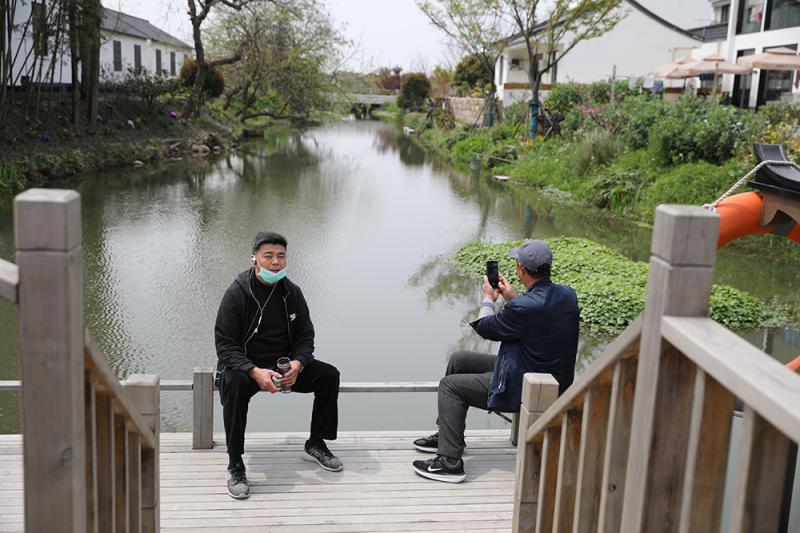
M 763 197 L 757 192 L 745 192 L 729 196 L 717 204 L 719 214 L 719 240 L 717 249 L 745 235 L 772 233 L 774 227 L 761 225 Z M 800 224 L 795 224 L 786 235 L 800 243 Z

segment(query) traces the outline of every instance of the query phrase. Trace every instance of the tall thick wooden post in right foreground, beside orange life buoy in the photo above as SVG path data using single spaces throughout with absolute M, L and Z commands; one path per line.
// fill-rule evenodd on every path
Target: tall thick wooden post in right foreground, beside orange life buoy
M 675 410 L 676 403 L 688 401 L 686 407 L 691 407 L 693 379 L 675 381 L 693 376 L 693 370 L 678 356 L 664 353 L 661 322 L 668 315 L 706 315 L 718 233 L 719 217 L 702 207 L 656 209 L 622 511 L 621 530 L 628 533 L 677 531 L 680 501 L 677 509 L 670 507 L 683 485 L 688 442 L 679 441 L 688 441 L 689 417 L 663 413 Z M 659 381 L 659 372 L 673 379 Z M 657 412 L 662 413 L 658 424 Z M 665 453 L 670 462 L 658 462 Z M 645 513 L 645 503 L 654 501 L 661 503 Z

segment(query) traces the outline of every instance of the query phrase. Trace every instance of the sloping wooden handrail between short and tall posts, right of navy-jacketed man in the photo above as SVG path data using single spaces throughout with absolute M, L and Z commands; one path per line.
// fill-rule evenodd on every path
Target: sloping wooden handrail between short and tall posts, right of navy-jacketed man
M 642 334 L 642 315 L 636 317 L 619 337 L 606 347 L 605 351 L 595 359 L 583 374 L 575 378 L 575 382 L 558 397 L 550 408 L 528 428 L 526 440 L 531 442 L 541 438 L 542 431 L 553 425 L 560 425 L 560 415 L 569 406 L 578 403 L 590 387 L 598 382 L 611 383 L 614 366 L 621 359 L 633 357 L 639 351 L 639 337 Z M 538 435 L 538 437 L 537 437 Z

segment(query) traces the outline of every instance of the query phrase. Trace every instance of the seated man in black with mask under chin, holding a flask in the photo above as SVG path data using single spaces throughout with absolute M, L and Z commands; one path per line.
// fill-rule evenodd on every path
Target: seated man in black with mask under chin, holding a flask
M 342 462 L 325 441 L 336 438 L 339 371 L 314 358 L 314 325 L 300 287 L 286 277 L 286 239 L 259 233 L 253 241 L 253 266 L 225 291 L 217 312 L 214 337 L 225 442 L 228 446 L 228 494 L 250 496 L 244 462 L 244 430 L 250 398 L 260 390 L 275 394 L 281 385 L 294 392 L 313 392 L 311 434 L 303 459 L 337 472 Z M 275 366 L 288 356 L 281 376 Z

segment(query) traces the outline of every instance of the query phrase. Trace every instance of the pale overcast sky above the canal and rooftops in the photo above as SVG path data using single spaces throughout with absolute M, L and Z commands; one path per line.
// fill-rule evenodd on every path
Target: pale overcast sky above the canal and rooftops
M 459 54 L 430 25 L 414 0 L 323 0 L 342 33 L 353 42 L 348 69 L 360 72 L 399 65 L 403 70 L 432 71 L 453 66 Z M 710 22 L 709 0 L 638 0 L 682 28 Z M 184 0 L 102 0 L 103 5 L 149 20 L 191 44 Z

